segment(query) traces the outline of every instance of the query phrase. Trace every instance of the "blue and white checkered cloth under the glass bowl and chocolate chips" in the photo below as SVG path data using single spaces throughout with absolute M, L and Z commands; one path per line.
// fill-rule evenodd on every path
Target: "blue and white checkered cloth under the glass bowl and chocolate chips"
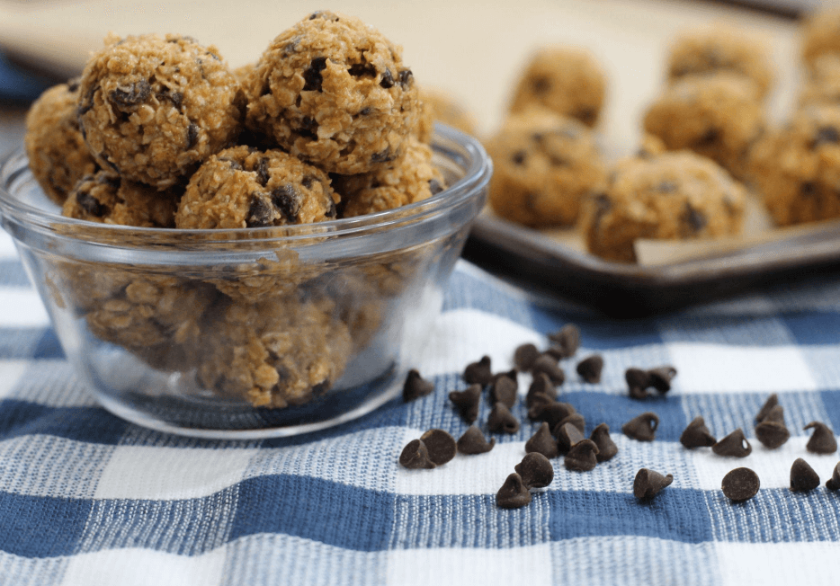
M 496 507 L 496 491 L 536 430 L 496 436 L 493 451 L 434 470 L 398 455 L 431 428 L 466 424 L 447 396 L 482 355 L 512 367 L 523 342 L 577 324 L 582 348 L 564 360 L 563 401 L 587 434 L 607 422 L 619 454 L 588 473 L 555 464 L 531 505 Z M 840 493 L 789 489 L 804 457 L 823 484 L 840 455 L 805 449 L 812 420 L 840 430 L 840 280 L 617 322 L 539 299 L 460 262 L 416 367 L 433 395 L 401 400 L 328 431 L 283 440 L 189 440 L 122 422 L 85 394 L 50 329 L 8 236 L 0 237 L 0 583 L 165 584 L 836 584 Z M 574 372 L 603 354 L 600 384 Z M 666 397 L 627 396 L 624 370 L 672 364 Z M 521 393 L 528 387 L 522 376 Z M 717 437 L 754 417 L 771 393 L 791 440 L 746 459 L 684 449 L 702 415 Z M 481 405 L 478 422 L 489 405 Z M 621 424 L 652 410 L 657 440 Z M 733 504 L 720 481 L 753 468 L 761 491 Z M 641 467 L 674 475 L 637 502 Z

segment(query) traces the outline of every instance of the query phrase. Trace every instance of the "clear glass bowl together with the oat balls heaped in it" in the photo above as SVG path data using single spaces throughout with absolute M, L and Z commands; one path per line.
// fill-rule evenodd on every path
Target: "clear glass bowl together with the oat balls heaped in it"
M 238 69 L 110 36 L 42 94 L 0 215 L 100 403 L 244 439 L 398 395 L 492 172 L 420 95 L 397 45 L 326 11 Z

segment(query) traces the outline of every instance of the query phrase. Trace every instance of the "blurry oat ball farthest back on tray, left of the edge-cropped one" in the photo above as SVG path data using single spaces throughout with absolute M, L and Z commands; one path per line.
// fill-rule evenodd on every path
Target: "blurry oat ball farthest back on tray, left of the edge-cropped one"
M 773 84 L 770 50 L 763 40 L 731 26 L 704 26 L 686 31 L 668 55 L 668 79 L 728 72 L 751 79 L 760 97 Z

